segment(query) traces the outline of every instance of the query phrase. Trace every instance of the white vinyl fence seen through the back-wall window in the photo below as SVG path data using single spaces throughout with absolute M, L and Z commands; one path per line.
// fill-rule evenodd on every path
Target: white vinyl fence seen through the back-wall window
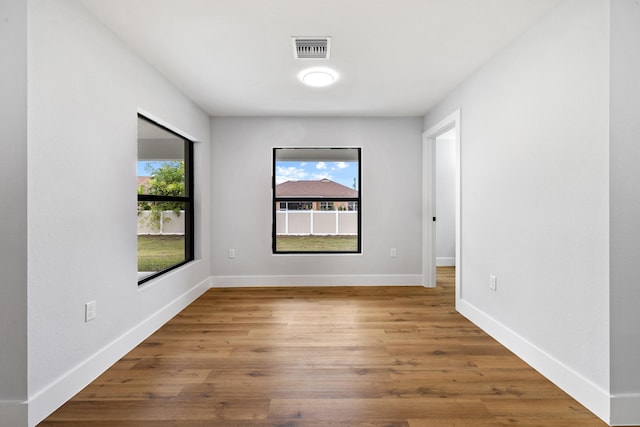
M 356 211 L 278 211 L 276 212 L 278 235 L 357 235 Z

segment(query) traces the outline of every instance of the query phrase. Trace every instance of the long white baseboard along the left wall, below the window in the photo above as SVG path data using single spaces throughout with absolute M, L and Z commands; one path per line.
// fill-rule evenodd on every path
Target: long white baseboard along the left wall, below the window
M 195 285 L 140 322 L 140 324 L 121 335 L 115 341 L 106 345 L 89 359 L 64 374 L 57 381 L 31 396 L 28 403 L 29 426 L 34 426 L 49 416 L 53 411 L 122 358 L 122 356 L 131 351 L 173 316 L 195 301 L 200 295 L 206 292 L 209 287 L 209 279 Z

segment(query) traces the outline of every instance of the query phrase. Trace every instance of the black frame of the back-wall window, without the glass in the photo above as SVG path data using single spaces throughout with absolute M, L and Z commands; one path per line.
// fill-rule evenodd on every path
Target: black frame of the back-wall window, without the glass
M 357 150 L 357 158 L 358 158 L 358 173 L 357 173 L 357 182 L 358 182 L 358 196 L 357 197 L 331 197 L 330 200 L 322 197 L 304 197 L 304 200 L 301 200 L 300 197 L 277 197 L 276 196 L 276 163 L 277 163 L 277 150 L 282 149 L 300 149 L 300 150 Z M 310 160 L 313 161 L 313 160 Z M 271 212 L 272 212 L 272 231 L 271 231 L 271 251 L 273 255 L 361 255 L 362 254 L 362 147 L 353 147 L 353 146 L 320 146 L 320 147 L 305 147 L 305 146 L 294 146 L 294 147 L 273 147 L 272 154 L 272 177 L 271 177 Z M 290 211 L 288 208 L 288 203 L 301 203 L 301 202 L 310 202 L 312 205 L 316 202 L 355 202 L 358 207 L 358 210 L 355 211 L 357 215 L 357 249 L 355 251 L 278 251 L 276 248 L 277 241 L 277 233 L 276 233 L 276 217 L 278 212 L 283 212 L 279 209 L 281 202 L 287 202 L 287 211 Z M 278 208 L 276 208 L 278 206 Z M 353 211 L 351 211 L 353 212 Z

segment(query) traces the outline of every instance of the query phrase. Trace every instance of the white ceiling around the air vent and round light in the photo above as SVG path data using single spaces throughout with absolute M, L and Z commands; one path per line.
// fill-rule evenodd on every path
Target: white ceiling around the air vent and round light
M 420 116 L 559 0 L 81 0 L 212 116 Z M 292 36 L 330 36 L 297 60 Z M 339 80 L 309 88 L 307 67 Z

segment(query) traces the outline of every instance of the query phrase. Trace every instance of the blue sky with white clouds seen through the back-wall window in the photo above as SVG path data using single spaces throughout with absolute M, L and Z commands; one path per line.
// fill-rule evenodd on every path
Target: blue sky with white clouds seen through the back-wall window
M 358 162 L 276 162 L 276 184 L 285 181 L 328 178 L 353 188 L 358 177 Z M 360 183 L 356 183 L 356 189 Z

